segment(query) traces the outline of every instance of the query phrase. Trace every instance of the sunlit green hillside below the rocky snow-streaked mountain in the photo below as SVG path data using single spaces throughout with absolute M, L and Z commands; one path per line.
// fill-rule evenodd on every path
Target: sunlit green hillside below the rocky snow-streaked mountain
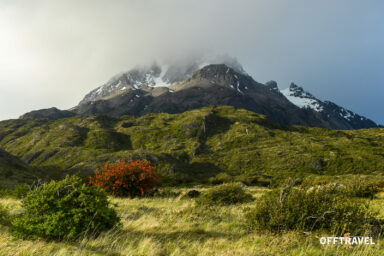
M 281 127 L 233 107 L 182 114 L 0 122 L 0 146 L 51 177 L 147 159 L 168 181 L 225 176 L 383 174 L 384 129 Z

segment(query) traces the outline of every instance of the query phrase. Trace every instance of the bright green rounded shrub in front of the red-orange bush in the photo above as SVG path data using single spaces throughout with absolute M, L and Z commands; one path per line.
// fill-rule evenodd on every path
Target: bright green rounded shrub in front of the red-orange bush
M 25 214 L 15 217 L 11 228 L 20 237 L 74 240 L 97 235 L 119 221 L 106 193 L 76 176 L 36 187 L 23 207 Z

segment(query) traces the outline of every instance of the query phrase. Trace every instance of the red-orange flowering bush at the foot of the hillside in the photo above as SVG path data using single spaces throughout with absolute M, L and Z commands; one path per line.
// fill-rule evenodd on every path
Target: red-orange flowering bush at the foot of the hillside
M 100 187 L 115 196 L 144 196 L 159 185 L 160 174 L 144 160 L 129 163 L 118 160 L 104 164 L 96 175 L 89 178 L 89 184 Z

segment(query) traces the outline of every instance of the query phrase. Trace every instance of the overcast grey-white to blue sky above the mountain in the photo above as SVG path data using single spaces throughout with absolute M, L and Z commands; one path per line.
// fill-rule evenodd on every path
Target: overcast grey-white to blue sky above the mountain
M 384 123 L 382 0 L 0 0 L 0 120 L 75 106 L 153 60 L 236 57 Z

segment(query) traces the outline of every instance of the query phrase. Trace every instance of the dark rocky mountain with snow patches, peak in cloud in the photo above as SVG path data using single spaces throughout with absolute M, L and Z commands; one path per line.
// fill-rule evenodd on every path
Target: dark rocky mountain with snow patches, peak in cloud
M 256 82 L 240 65 L 211 64 L 136 68 L 112 78 L 87 94 L 68 111 L 41 110 L 23 118 L 61 118 L 71 115 L 111 116 L 181 113 L 207 106 L 230 105 L 266 115 L 281 125 L 331 129 L 378 127 L 372 120 L 335 103 L 321 101 L 291 84 L 279 90 L 274 81 Z M 54 114 L 51 114 L 53 112 Z

